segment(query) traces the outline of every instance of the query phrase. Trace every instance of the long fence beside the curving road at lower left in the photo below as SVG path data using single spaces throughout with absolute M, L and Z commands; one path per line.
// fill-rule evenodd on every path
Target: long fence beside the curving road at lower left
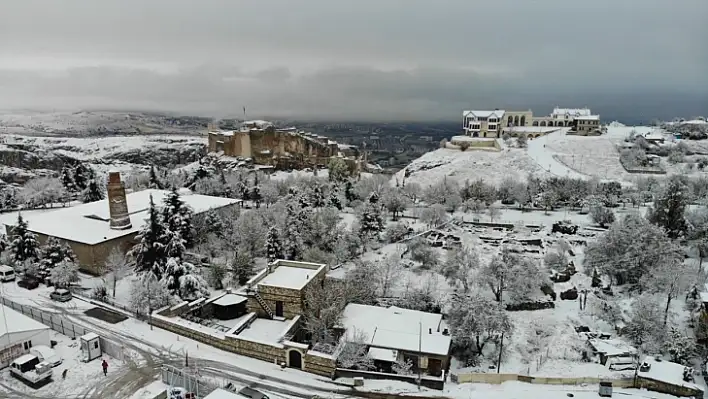
M 66 335 L 69 338 L 78 338 L 90 332 L 95 333 L 100 337 L 101 348 L 104 353 L 114 359 L 121 361 L 125 360 L 125 348 L 122 345 L 101 337 L 101 333 L 98 331 L 87 329 L 84 326 L 69 321 L 66 317 L 59 313 L 52 313 L 34 308 L 32 306 L 22 305 L 5 297 L 2 297 L 2 304 L 10 309 L 22 313 L 25 316 L 29 316 L 30 318 L 37 320 L 52 330 L 62 335 Z

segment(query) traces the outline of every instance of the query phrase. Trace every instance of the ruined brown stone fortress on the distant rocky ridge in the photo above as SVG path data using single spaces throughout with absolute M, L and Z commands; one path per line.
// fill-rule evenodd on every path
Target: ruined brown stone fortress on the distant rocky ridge
M 276 169 L 303 169 L 326 166 L 333 157 L 342 158 L 352 172 L 362 168 L 359 150 L 325 136 L 297 130 L 276 129 L 265 121 L 244 122 L 239 130 L 209 126 L 209 152 L 227 157 L 251 159 Z

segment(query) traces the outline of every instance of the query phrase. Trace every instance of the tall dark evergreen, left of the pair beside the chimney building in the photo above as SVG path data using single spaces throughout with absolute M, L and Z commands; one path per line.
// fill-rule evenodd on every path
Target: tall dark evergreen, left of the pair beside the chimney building
M 155 202 L 150 196 L 150 207 L 145 226 L 135 237 L 138 241 L 130 250 L 129 255 L 135 260 L 136 273 L 151 272 L 159 280 L 166 261 L 165 244 L 161 241 L 165 236 L 165 226 L 158 213 Z

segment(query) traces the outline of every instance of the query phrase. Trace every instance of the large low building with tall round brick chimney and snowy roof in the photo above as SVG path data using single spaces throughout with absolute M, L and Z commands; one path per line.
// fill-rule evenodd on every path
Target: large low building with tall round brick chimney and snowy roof
M 109 173 L 108 197 L 69 208 L 33 214 L 25 220 L 28 229 L 44 244 L 49 237 L 68 244 L 76 254 L 81 270 L 100 274 L 113 248 L 127 252 L 135 245 L 135 236 L 145 224 L 150 198 L 161 206 L 169 191 L 143 190 L 125 194 L 120 174 Z M 182 200 L 195 217 L 210 209 L 225 210 L 238 206 L 240 200 L 192 194 L 181 189 Z M 6 224 L 8 232 L 12 225 Z

